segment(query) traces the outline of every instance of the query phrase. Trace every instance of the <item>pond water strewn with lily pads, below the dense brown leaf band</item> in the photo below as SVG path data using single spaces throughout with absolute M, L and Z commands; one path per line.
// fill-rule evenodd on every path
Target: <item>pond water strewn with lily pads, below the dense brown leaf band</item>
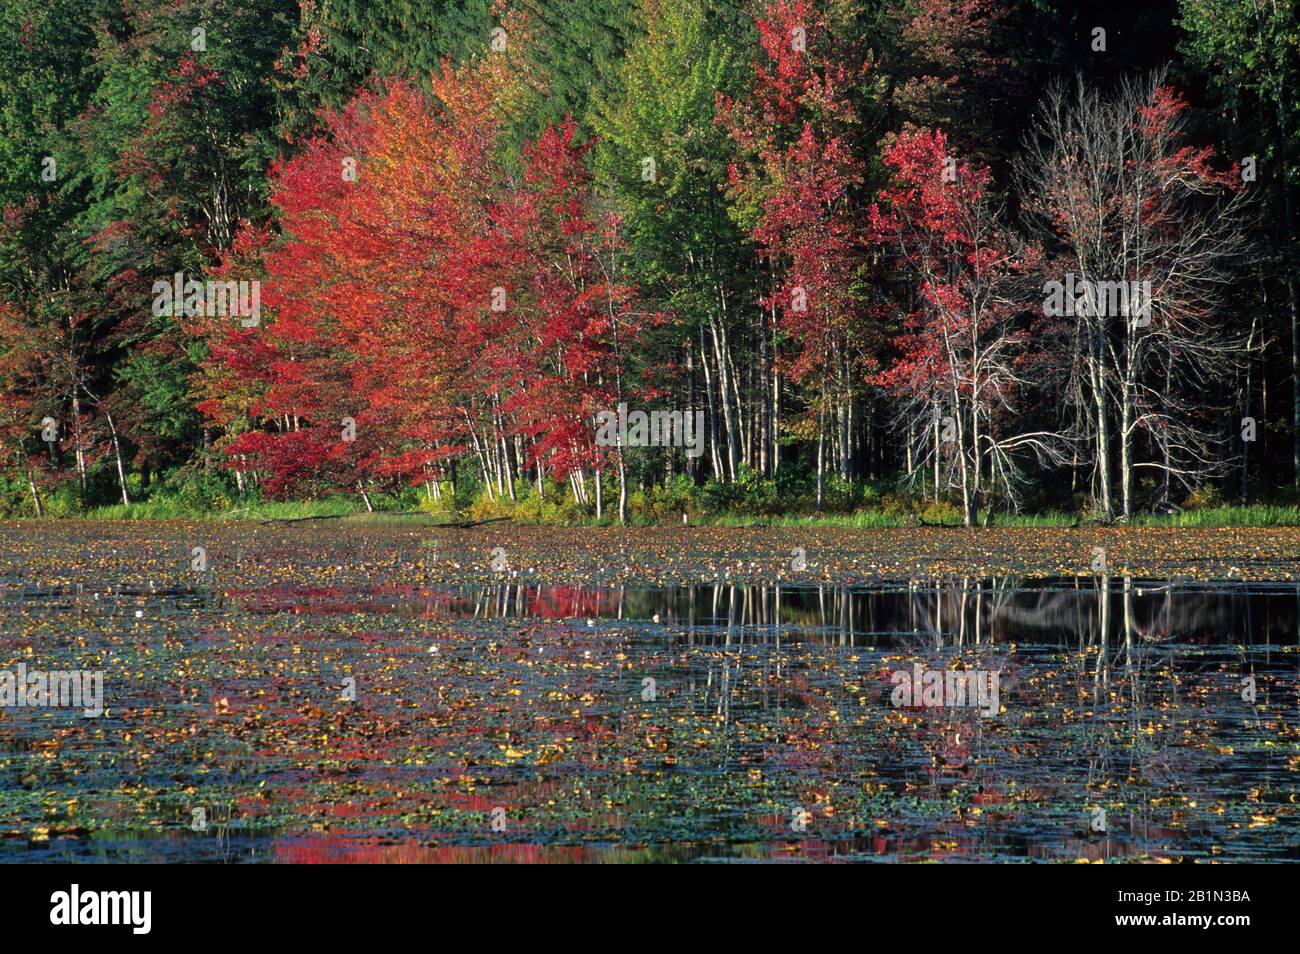
M 0 668 L 101 668 L 109 711 L 0 721 L 0 859 L 1295 860 L 1297 608 L 1105 577 L 9 586 Z M 892 704 L 918 664 L 1000 673 L 1001 710 Z

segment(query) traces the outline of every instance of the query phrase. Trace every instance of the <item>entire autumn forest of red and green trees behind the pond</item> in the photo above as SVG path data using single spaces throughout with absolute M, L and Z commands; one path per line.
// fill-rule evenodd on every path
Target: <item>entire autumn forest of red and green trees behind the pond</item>
M 1300 504 L 1295 0 L 0 0 L 0 151 L 3 515 Z

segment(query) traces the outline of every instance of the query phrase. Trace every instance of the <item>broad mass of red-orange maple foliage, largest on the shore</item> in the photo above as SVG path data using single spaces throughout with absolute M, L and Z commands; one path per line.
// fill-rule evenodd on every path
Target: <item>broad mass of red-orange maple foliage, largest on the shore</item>
M 273 170 L 278 230 L 246 230 L 228 263 L 265 276 L 266 315 L 208 329 L 202 407 L 260 425 L 228 450 L 272 494 L 422 482 L 516 435 L 554 476 L 597 463 L 593 416 L 646 318 L 618 277 L 618 220 L 594 211 L 589 144 L 572 121 L 547 129 L 520 183 L 490 86 L 433 87 L 393 82 L 333 117 Z

